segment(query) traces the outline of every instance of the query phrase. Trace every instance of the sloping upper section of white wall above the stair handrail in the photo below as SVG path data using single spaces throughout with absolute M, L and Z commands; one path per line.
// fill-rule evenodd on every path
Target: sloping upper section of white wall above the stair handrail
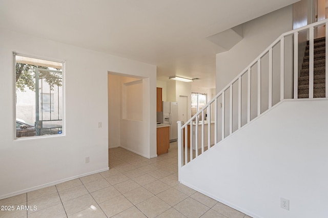
M 288 6 L 244 23 L 243 39 L 231 50 L 216 55 L 216 93 L 282 33 L 293 28 L 293 10 Z

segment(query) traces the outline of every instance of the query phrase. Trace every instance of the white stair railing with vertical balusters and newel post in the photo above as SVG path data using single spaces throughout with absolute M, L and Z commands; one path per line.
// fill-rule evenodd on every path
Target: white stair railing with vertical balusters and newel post
M 299 51 L 299 47 L 302 47 L 300 44 L 306 43 L 306 40 L 309 40 L 310 51 L 309 99 L 313 99 L 314 37 L 320 28 L 325 29 L 324 35 L 327 36 L 327 24 L 328 19 L 325 19 L 282 34 L 188 122 L 182 124 L 178 121 L 179 181 L 181 167 L 206 152 L 211 146 L 270 110 L 278 102 L 298 98 L 301 59 L 299 54 L 304 54 L 304 51 Z M 304 35 L 305 39 L 302 40 L 301 36 Z M 326 44 L 327 40 L 326 37 Z M 327 49 L 325 46 L 325 54 Z M 328 83 L 327 58 L 326 55 L 325 84 Z M 277 62 L 280 64 L 276 64 Z M 286 65 L 291 66 L 288 68 Z M 267 81 L 263 80 L 264 77 Z M 325 89 L 325 96 L 328 96 L 328 88 Z M 199 121 L 200 114 L 201 117 L 207 115 L 208 121 Z

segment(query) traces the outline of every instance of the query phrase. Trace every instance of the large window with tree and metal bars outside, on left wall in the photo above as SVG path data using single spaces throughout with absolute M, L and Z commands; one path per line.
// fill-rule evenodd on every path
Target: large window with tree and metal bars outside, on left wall
M 63 133 L 63 63 L 14 54 L 16 138 Z

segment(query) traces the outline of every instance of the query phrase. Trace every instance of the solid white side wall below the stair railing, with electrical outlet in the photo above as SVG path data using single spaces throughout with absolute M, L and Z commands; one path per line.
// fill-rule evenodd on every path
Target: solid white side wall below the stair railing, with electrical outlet
M 328 217 L 327 111 L 328 99 L 283 100 L 183 166 L 180 181 L 252 217 Z

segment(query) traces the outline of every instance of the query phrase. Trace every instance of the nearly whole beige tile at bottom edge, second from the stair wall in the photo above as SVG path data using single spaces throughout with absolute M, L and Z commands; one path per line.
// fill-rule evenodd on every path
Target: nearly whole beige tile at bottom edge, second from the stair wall
M 204 213 L 206 213 L 210 208 L 199 203 L 198 201 L 187 198 L 182 202 L 178 203 L 174 206 L 174 209 L 182 213 L 187 217 L 200 217 Z

